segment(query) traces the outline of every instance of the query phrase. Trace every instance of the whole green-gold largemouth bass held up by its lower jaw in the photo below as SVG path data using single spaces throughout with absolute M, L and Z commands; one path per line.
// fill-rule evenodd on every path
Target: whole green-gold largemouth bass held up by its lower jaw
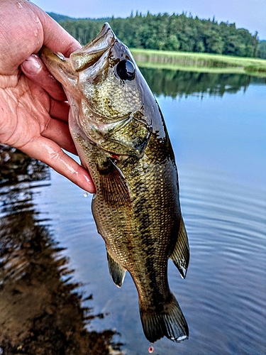
M 174 152 L 153 93 L 109 23 L 70 58 L 45 47 L 40 58 L 70 103 L 70 132 L 96 187 L 92 214 L 113 282 L 120 288 L 130 273 L 151 343 L 187 339 L 167 267 L 171 258 L 186 277 L 189 241 Z

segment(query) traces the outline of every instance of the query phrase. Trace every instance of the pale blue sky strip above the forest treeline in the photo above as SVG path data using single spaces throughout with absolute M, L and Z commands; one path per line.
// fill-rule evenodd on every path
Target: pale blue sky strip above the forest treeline
M 266 40 L 266 0 L 31 0 L 47 12 L 70 17 L 127 17 L 141 13 L 192 13 L 199 18 L 235 23 Z

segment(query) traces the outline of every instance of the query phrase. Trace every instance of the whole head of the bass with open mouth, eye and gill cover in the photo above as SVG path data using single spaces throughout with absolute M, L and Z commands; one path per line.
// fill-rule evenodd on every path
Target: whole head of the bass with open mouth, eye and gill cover
M 106 151 L 140 157 L 158 107 L 121 40 L 105 23 L 101 33 L 70 58 L 43 48 L 40 56 L 62 83 L 72 107 L 72 136 L 82 133 Z

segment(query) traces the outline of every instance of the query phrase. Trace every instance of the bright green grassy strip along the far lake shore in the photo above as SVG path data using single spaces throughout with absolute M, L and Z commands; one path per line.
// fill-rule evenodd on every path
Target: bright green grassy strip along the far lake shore
M 201 72 L 248 73 L 266 77 L 266 60 L 263 59 L 143 49 L 131 49 L 131 53 L 140 67 Z

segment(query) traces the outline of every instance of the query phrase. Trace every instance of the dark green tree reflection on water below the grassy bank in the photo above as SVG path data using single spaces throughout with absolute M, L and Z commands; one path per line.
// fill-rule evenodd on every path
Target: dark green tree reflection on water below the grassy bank
M 145 80 L 156 96 L 187 97 L 191 94 L 223 97 L 223 94 L 245 91 L 253 82 L 265 83 L 266 78 L 243 74 L 186 72 L 182 70 L 141 68 Z

